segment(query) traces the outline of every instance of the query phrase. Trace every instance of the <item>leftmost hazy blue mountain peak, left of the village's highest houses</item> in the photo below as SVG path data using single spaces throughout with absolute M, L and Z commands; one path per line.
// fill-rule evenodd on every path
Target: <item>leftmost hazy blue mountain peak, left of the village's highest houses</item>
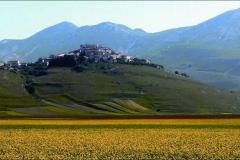
M 71 23 L 63 22 L 24 40 L 3 40 L 0 42 L 1 58 L 34 61 L 41 56 L 67 51 L 65 45 L 71 45 L 70 38 L 77 28 Z

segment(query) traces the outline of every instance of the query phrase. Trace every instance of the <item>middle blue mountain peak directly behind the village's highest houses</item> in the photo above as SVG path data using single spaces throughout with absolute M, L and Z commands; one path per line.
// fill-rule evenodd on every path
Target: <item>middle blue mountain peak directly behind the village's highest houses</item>
M 104 22 L 94 26 L 83 26 L 76 32 L 79 43 L 93 43 L 109 46 L 121 52 L 129 52 L 131 47 L 147 33 L 130 29 L 124 25 Z

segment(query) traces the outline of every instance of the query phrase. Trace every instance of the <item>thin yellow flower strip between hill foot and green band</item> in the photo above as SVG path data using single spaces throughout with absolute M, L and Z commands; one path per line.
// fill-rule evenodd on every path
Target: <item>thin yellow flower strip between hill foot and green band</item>
M 2 119 L 0 125 L 240 125 L 240 119 Z

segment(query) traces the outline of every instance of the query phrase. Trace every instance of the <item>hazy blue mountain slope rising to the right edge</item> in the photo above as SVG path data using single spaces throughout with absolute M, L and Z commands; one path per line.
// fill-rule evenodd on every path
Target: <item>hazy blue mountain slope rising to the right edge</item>
M 132 52 L 171 70 L 187 72 L 201 82 L 239 91 L 239 20 L 237 9 L 196 26 L 147 35 Z

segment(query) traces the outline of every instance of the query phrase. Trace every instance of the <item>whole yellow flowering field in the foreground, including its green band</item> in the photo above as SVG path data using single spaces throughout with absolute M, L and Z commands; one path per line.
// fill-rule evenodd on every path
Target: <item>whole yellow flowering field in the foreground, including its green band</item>
M 0 120 L 0 159 L 240 159 L 239 122 Z

